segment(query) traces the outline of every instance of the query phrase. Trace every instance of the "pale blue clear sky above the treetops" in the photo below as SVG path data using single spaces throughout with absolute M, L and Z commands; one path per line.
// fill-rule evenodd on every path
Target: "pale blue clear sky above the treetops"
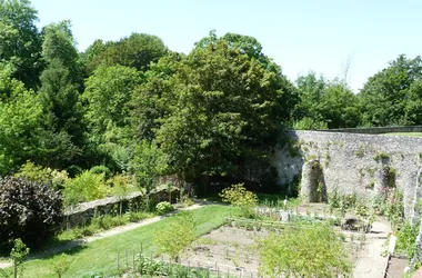
M 254 37 L 291 81 L 314 71 L 358 92 L 399 54 L 422 53 L 421 0 L 31 0 L 39 27 L 71 20 L 78 49 L 132 32 L 189 53 L 211 30 Z M 348 66 L 349 64 L 349 66 Z M 349 70 L 345 70 L 349 69 Z M 344 72 L 348 72 L 344 75 Z

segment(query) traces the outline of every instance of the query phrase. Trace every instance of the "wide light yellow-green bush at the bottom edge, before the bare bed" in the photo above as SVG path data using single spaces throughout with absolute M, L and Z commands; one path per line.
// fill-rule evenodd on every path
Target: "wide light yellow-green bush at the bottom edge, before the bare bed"
M 259 250 L 265 277 L 338 277 L 352 271 L 344 244 L 326 224 L 287 227 L 264 238 Z

